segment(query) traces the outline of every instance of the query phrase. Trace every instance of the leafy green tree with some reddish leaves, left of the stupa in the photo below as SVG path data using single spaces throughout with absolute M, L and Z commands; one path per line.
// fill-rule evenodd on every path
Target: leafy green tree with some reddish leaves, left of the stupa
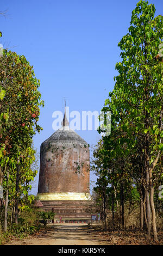
M 1 184 L 4 178 L 14 181 L 16 223 L 21 184 L 29 188 L 29 177 L 35 175 L 30 174 L 29 164 L 34 161 L 33 135 L 42 130 L 37 124 L 39 107 L 43 105 L 39 86 L 40 81 L 26 58 L 4 50 L 0 62 L 0 181 Z

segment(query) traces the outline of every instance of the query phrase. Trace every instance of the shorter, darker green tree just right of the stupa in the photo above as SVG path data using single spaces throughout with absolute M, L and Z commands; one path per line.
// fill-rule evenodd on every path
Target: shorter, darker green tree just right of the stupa
M 111 125 L 113 126 L 114 123 L 111 122 Z M 104 216 L 105 227 L 107 204 L 111 205 L 112 225 L 114 226 L 114 213 L 117 211 L 120 214 L 122 228 L 124 228 L 124 203 L 129 199 L 128 194 L 133 185 L 133 179 L 128 172 L 131 164 L 126 161 L 124 155 L 126 148 L 124 146 L 119 148 L 118 138 L 120 136 L 120 131 L 117 133 L 114 129 L 109 137 L 103 137 L 98 142 L 93 151 L 91 170 L 94 170 L 98 176 L 97 186 L 94 189 L 99 199 L 103 201 L 102 216 Z M 106 200 L 108 203 L 106 203 Z

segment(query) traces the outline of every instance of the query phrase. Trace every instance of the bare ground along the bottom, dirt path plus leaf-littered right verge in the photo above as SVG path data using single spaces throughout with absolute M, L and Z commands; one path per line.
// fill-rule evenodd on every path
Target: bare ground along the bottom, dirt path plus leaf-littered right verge
M 5 245 L 163 245 L 163 232 L 158 232 L 159 242 L 147 241 L 139 230 L 104 231 L 100 226 L 61 223 L 42 228 L 26 239 L 12 239 Z

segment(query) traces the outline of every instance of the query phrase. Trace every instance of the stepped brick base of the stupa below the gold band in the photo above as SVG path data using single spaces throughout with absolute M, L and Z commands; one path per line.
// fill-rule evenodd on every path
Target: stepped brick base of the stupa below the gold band
M 42 210 L 55 213 L 54 220 L 60 220 L 60 218 L 65 222 L 91 220 L 91 214 L 86 212 L 91 200 L 41 200 L 41 203 Z

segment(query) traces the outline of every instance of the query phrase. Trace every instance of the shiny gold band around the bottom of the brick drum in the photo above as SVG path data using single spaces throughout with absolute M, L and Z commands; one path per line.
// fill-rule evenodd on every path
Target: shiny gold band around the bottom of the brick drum
M 49 200 L 91 200 L 90 193 L 62 192 L 62 193 L 38 193 L 40 201 Z

